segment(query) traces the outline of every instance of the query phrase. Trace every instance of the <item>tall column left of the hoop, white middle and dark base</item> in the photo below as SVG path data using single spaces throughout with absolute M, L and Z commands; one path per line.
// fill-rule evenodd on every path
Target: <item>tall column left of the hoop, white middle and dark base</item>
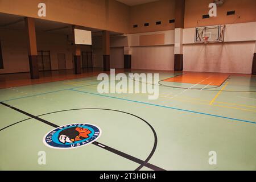
M 183 71 L 183 28 L 185 0 L 175 1 L 174 71 Z

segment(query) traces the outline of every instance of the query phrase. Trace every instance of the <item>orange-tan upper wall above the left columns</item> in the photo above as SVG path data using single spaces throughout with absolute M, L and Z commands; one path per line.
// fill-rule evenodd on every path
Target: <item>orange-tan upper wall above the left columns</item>
M 42 19 L 127 32 L 129 6 L 115 0 L 1 0 L 0 12 L 38 17 L 38 4 L 46 3 L 47 14 Z

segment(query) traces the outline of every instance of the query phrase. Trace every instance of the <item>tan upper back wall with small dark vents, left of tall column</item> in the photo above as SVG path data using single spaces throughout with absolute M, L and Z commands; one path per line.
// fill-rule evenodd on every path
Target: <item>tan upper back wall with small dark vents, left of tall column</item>
M 174 29 L 174 23 L 169 23 L 175 18 L 175 0 L 160 0 L 142 5 L 132 6 L 130 9 L 130 34 L 139 32 L 153 32 Z M 162 24 L 156 25 L 156 21 Z M 150 23 L 144 27 L 144 23 Z M 133 28 L 138 24 L 138 28 Z

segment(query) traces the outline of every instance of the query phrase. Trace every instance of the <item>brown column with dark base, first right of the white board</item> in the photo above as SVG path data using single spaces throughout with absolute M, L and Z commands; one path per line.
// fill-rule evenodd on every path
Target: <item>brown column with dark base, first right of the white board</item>
M 102 32 L 103 43 L 103 70 L 110 71 L 110 34 L 109 31 Z

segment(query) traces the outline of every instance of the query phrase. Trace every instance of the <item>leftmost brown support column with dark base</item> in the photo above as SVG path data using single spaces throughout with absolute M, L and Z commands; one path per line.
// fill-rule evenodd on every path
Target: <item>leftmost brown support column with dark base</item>
M 28 60 L 30 63 L 30 77 L 31 79 L 39 78 L 38 69 L 38 49 L 36 47 L 36 33 L 35 33 L 35 19 L 25 18 L 26 31 L 28 35 Z

